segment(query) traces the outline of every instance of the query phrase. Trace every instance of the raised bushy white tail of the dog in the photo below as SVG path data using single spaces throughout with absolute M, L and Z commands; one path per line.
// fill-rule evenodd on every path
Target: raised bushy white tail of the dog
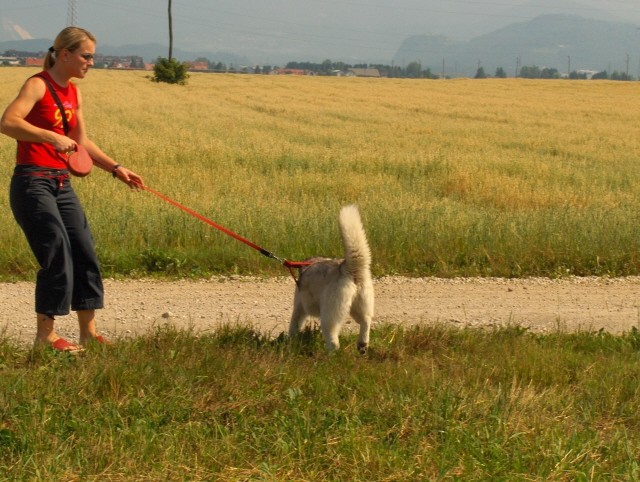
M 355 205 L 340 210 L 340 235 L 344 245 L 344 269 L 356 283 L 371 276 L 371 249 Z

